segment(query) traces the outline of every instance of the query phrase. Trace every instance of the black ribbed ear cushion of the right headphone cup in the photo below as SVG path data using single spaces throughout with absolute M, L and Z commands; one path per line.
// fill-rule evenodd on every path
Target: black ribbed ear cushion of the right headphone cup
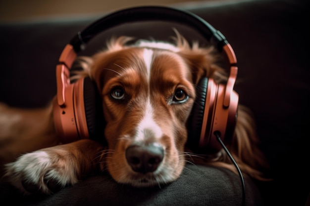
M 204 120 L 204 111 L 207 97 L 208 79 L 202 78 L 196 87 L 196 99 L 188 120 L 188 139 L 187 146 L 195 151 L 199 151 L 199 141 Z

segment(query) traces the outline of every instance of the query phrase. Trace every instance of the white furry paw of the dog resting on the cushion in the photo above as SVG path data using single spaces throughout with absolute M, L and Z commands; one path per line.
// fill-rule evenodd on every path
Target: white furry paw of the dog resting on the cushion
M 5 165 L 5 177 L 24 194 L 51 194 L 78 181 L 73 159 L 69 153 L 28 153 Z

